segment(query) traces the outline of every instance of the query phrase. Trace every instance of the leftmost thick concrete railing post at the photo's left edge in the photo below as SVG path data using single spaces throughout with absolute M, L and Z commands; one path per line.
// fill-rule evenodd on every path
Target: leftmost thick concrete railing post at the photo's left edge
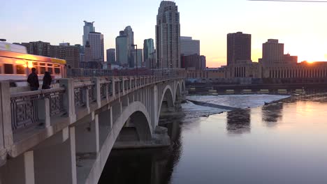
M 13 145 L 13 128 L 11 125 L 11 110 L 10 110 L 10 88 L 9 82 L 0 83 L 0 149 L 8 148 Z M 2 151 L 0 150 L 0 153 Z M 1 158 L 6 155 L 0 155 Z

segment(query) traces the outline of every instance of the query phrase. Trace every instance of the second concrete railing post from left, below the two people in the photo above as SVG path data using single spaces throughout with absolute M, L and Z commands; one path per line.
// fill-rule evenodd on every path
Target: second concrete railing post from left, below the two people
M 37 100 L 38 107 L 38 119 L 41 123 L 45 124 L 45 127 L 50 126 L 50 102 L 49 98 L 43 98 Z

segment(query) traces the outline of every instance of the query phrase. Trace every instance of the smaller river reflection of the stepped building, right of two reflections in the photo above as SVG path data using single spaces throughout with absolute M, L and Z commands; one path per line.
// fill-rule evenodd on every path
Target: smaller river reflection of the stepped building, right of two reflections
M 274 103 L 265 105 L 262 108 L 262 121 L 267 124 L 268 127 L 277 125 L 277 121 L 282 118 L 282 103 Z

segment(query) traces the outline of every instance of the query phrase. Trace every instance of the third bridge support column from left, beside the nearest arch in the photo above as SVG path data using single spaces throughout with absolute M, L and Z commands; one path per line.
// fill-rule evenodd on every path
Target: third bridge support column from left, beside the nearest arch
M 75 126 L 76 153 L 99 152 L 99 114 L 94 115 L 94 121 Z

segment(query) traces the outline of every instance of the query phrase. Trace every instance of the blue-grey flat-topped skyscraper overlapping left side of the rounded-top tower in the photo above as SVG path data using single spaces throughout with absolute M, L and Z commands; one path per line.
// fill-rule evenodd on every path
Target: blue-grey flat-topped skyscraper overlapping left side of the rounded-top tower
M 127 36 L 124 36 L 124 34 L 121 34 L 116 38 L 116 61 L 123 67 L 129 66 L 129 48 L 127 45 L 127 39 Z

